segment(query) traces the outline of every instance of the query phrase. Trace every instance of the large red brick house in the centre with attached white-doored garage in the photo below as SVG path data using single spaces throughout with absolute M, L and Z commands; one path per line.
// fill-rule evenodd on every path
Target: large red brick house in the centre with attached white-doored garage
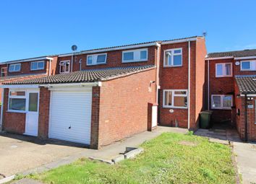
M 1 128 L 94 149 L 157 124 L 196 130 L 206 54 L 195 36 L 51 57 L 46 76 L 3 82 Z

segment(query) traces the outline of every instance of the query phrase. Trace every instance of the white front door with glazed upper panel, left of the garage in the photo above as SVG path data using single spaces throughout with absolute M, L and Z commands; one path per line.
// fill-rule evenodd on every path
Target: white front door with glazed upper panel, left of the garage
M 39 91 L 27 90 L 26 135 L 38 136 L 38 103 Z

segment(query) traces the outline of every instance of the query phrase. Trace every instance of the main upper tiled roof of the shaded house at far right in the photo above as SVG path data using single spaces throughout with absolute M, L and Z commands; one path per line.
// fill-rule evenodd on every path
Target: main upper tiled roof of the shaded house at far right
M 206 58 L 222 58 L 222 57 L 247 57 L 247 56 L 256 56 L 256 49 L 247 49 L 243 51 L 229 51 L 221 53 L 208 53 Z

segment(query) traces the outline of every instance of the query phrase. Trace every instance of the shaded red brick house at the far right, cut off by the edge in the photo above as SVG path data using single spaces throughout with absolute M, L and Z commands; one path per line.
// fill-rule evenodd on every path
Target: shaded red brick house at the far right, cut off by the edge
M 205 58 L 205 109 L 214 123 L 236 126 L 244 140 L 256 141 L 256 49 L 208 53 Z

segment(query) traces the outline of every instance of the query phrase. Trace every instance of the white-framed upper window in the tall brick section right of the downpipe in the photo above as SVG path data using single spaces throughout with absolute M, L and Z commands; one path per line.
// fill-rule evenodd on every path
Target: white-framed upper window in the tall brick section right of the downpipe
M 182 66 L 182 48 L 175 48 L 164 51 L 163 66 Z

